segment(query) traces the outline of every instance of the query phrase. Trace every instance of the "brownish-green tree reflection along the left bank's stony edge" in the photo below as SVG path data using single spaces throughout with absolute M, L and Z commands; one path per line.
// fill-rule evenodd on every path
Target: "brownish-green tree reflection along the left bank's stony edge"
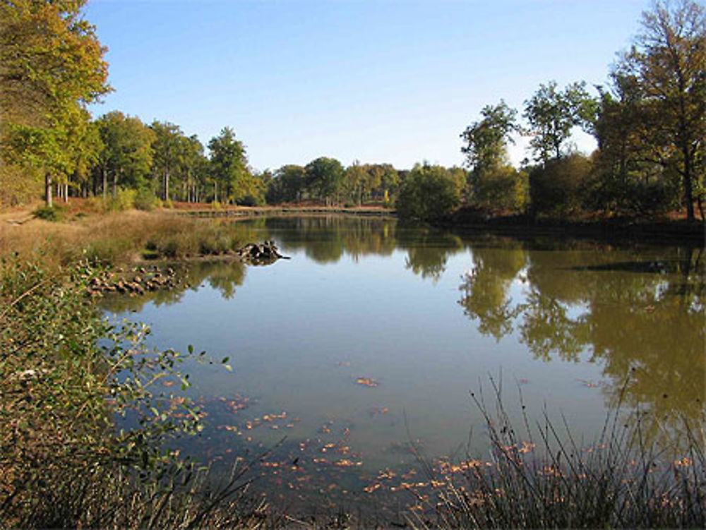
M 152 302 L 155 306 L 171 306 L 183 299 L 184 293 L 190 289 L 196 291 L 204 281 L 220 291 L 225 299 L 231 299 L 235 288 L 245 280 L 245 266 L 237 260 L 220 262 L 203 262 L 172 265 L 177 270 L 181 282 L 174 289 L 147 291 L 140 296 L 115 294 L 106 296 L 100 302 L 104 311 L 123 313 L 125 311 L 141 311 L 145 304 Z M 189 286 L 189 287 L 187 287 Z

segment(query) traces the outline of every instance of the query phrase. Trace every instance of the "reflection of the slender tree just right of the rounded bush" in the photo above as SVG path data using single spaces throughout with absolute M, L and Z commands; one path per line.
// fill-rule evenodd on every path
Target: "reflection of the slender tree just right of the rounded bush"
M 514 248 L 474 246 L 473 267 L 463 277 L 459 303 L 463 312 L 478 320 L 478 330 L 499 341 L 513 332 L 513 320 L 522 310 L 508 298 L 513 279 L 525 267 L 527 252 Z

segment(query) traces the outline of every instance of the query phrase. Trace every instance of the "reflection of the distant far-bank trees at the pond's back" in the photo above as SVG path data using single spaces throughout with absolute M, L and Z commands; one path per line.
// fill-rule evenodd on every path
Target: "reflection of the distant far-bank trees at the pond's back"
M 316 263 L 335 263 L 344 255 L 390 255 L 395 250 L 395 219 L 275 217 L 266 226 L 283 251 L 303 250 Z

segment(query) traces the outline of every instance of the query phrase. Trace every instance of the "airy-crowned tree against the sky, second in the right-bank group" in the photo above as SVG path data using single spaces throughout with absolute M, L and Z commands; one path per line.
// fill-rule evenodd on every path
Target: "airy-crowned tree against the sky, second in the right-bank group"
M 572 83 L 561 92 L 556 88 L 556 81 L 550 81 L 539 85 L 539 90 L 525 101 L 523 116 L 530 122 L 530 146 L 536 160 L 547 162 L 561 158 L 563 145 L 575 126 L 591 130 L 596 103 L 585 86 L 584 82 Z

